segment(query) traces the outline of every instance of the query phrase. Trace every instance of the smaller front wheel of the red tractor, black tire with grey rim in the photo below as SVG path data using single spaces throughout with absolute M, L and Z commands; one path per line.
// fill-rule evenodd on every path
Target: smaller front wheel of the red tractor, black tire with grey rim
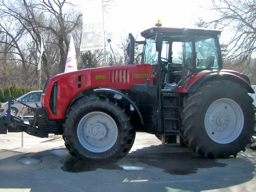
M 80 99 L 68 110 L 63 132 L 71 155 L 102 164 L 123 158 L 135 139 L 125 110 L 115 100 L 95 95 Z

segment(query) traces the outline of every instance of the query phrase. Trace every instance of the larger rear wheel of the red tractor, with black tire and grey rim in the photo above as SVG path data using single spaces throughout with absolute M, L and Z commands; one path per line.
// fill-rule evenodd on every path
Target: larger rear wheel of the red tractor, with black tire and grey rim
M 184 98 L 181 132 L 191 150 L 205 157 L 236 157 L 250 142 L 255 125 L 253 99 L 239 84 L 202 84 Z

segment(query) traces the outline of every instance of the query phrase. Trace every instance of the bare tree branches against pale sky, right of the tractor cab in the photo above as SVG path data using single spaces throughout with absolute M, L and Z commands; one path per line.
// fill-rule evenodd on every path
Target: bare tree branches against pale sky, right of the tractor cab
M 256 54 L 256 1 L 255 0 L 212 0 L 208 10 L 216 12 L 216 19 L 200 19 L 200 27 L 223 29 L 225 36 L 223 60 L 226 67 L 239 70 L 246 75 L 255 74 Z M 255 80 L 253 80 L 254 83 Z

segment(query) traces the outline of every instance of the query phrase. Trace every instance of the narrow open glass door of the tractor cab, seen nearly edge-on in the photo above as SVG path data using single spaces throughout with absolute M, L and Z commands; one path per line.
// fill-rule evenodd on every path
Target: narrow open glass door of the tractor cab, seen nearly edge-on
M 182 46 L 183 46 L 183 72 L 182 72 L 182 87 L 188 88 L 190 77 L 195 73 L 195 52 L 193 44 L 193 36 L 189 36 L 186 28 L 182 31 Z

